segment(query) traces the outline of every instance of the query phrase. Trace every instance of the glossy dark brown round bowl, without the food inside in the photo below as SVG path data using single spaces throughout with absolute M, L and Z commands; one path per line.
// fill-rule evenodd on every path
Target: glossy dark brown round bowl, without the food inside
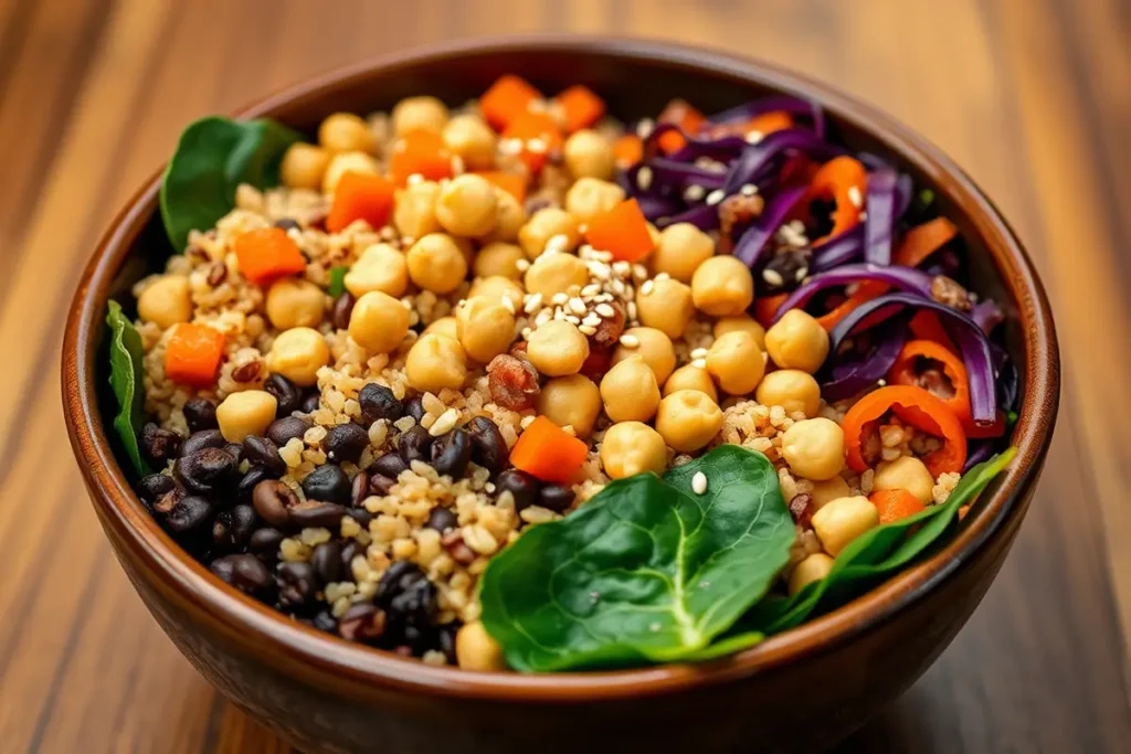
M 947 647 L 1001 566 L 1048 449 L 1060 392 L 1056 336 L 1033 265 L 996 208 L 934 146 L 875 109 L 778 68 L 668 43 L 586 37 L 459 42 L 378 58 L 248 107 L 308 131 L 326 114 L 435 94 L 460 103 L 503 72 L 546 92 L 586 84 L 614 114 L 671 96 L 702 110 L 788 93 L 827 109 L 852 146 L 893 156 L 933 187 L 974 250 L 976 287 L 1008 303 L 1022 401 L 1009 473 L 929 561 L 852 604 L 729 659 L 619 673 L 529 676 L 430 667 L 297 625 L 182 552 L 130 489 L 104 426 L 106 301 L 166 246 L 158 179 L 126 205 L 75 294 L 63 343 L 71 445 L 102 526 L 149 610 L 226 696 L 308 751 L 811 751 L 862 725 Z M 152 268 L 153 262 L 148 266 Z M 924 713 L 930 713 L 924 710 Z

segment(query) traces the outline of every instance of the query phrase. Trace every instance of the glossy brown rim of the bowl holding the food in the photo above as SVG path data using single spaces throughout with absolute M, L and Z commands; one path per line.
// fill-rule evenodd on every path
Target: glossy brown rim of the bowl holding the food
M 1031 260 L 996 207 L 949 157 L 878 107 L 830 85 L 776 64 L 671 41 L 602 35 L 487 36 L 413 47 L 321 73 L 238 111 L 274 112 L 379 70 L 484 52 L 558 53 L 633 59 L 675 66 L 788 92 L 819 102 L 921 170 L 966 214 L 985 239 L 1002 285 L 1016 300 L 1026 353 L 1025 396 L 1015 430 L 1018 458 L 970 525 L 930 560 L 889 579 L 847 605 L 770 636 L 736 655 L 699 666 L 667 665 L 631 670 L 526 675 L 438 667 L 346 642 L 301 625 L 222 582 L 161 530 L 130 488 L 114 459 L 97 409 L 94 358 L 109 288 L 131 244 L 156 207 L 161 172 L 145 182 L 112 220 L 77 286 L 62 350 L 63 413 L 72 450 L 95 510 L 115 549 L 140 561 L 140 575 L 180 607 L 238 643 L 260 662 L 321 688 L 349 686 L 368 694 L 396 688 L 442 696 L 518 702 L 595 702 L 640 697 L 725 683 L 827 652 L 891 619 L 955 575 L 991 539 L 1016 528 L 1027 492 L 1052 439 L 1060 396 L 1060 359 L 1047 296 Z M 127 554 L 119 553 L 127 560 Z

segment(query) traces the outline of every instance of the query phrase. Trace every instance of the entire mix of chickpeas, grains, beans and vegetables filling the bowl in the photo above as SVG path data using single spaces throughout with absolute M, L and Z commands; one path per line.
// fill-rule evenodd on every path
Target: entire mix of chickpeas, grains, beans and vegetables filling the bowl
M 508 75 L 317 135 L 206 118 L 161 214 L 176 253 L 107 315 L 140 499 L 425 662 L 724 657 L 936 549 L 1015 454 L 958 228 L 811 102 L 623 123 Z

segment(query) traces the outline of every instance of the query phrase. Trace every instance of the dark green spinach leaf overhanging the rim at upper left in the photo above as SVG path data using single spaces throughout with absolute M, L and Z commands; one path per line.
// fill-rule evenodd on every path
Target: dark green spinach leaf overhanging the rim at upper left
M 181 133 L 161 182 L 161 217 L 178 251 L 189 231 L 206 231 L 235 206 L 235 188 L 277 185 L 279 163 L 302 136 L 268 119 L 210 115 Z

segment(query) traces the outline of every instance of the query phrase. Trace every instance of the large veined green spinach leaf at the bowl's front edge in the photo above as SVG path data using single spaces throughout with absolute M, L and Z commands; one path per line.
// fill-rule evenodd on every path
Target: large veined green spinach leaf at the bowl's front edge
M 487 565 L 483 624 L 518 670 L 707 659 L 761 639 L 709 647 L 769 590 L 793 541 L 772 463 L 723 445 L 532 527 Z

